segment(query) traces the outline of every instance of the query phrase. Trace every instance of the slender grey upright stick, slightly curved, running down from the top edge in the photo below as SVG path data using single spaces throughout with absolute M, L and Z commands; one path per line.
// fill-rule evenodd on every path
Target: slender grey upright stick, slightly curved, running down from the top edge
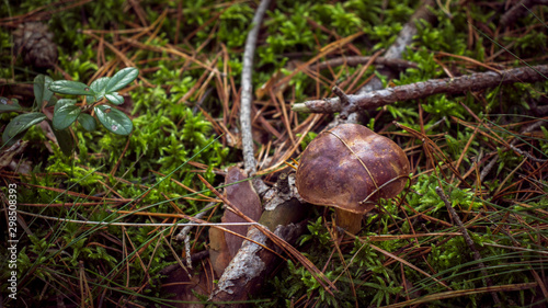
M 262 0 L 253 16 L 253 27 L 248 33 L 246 49 L 243 52 L 243 68 L 241 73 L 241 101 L 240 101 L 240 125 L 243 149 L 243 164 L 248 174 L 256 172 L 256 160 L 253 148 L 253 137 L 251 135 L 251 103 L 253 100 L 253 87 L 251 76 L 253 71 L 253 56 L 255 53 L 256 37 L 263 20 L 264 12 L 270 4 L 270 0 Z

